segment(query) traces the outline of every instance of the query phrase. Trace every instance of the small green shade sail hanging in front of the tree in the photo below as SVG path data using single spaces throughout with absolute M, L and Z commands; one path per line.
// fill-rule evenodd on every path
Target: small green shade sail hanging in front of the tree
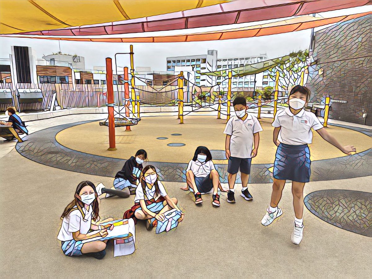
M 249 76 L 249 75 L 254 75 L 258 73 L 262 73 L 263 71 L 269 70 L 276 65 L 279 64 L 284 64 L 286 61 L 289 60 L 291 57 L 296 57 L 299 53 L 301 52 L 296 52 L 291 55 L 286 55 L 283 57 L 279 58 L 274 58 L 270 60 L 266 60 L 263 62 L 258 62 L 250 65 L 244 65 L 241 67 L 237 67 L 234 69 L 231 69 L 232 76 L 233 77 L 243 77 L 243 76 Z M 230 70 L 230 69 L 229 69 Z M 208 72 L 208 73 L 201 73 L 202 75 L 207 75 L 207 76 L 217 76 L 217 77 L 225 77 L 228 75 L 227 70 L 221 70 L 221 71 L 214 71 L 214 72 Z

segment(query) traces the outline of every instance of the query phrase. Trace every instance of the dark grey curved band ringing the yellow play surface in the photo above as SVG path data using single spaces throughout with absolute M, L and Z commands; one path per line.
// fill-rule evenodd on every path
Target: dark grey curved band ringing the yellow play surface
M 92 121 L 82 121 L 54 126 L 37 131 L 18 142 L 16 150 L 32 161 L 58 169 L 79 173 L 114 177 L 126 160 L 83 153 L 67 148 L 55 140 L 58 132 Z M 345 127 L 346 128 L 346 127 Z M 347 157 L 314 161 L 311 164 L 311 181 L 335 180 L 371 175 L 372 148 Z M 161 173 L 162 179 L 169 182 L 186 182 L 186 163 L 148 162 Z M 221 175 L 221 182 L 227 183 L 227 164 L 216 164 Z M 253 164 L 249 183 L 270 183 L 272 174 L 269 168 L 273 164 Z M 237 177 L 237 183 L 240 183 Z

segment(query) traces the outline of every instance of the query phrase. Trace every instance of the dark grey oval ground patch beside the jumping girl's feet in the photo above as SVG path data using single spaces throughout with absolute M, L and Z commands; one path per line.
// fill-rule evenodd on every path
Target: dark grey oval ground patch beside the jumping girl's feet
M 372 193 L 352 190 L 320 190 L 304 199 L 307 209 L 323 221 L 372 237 Z

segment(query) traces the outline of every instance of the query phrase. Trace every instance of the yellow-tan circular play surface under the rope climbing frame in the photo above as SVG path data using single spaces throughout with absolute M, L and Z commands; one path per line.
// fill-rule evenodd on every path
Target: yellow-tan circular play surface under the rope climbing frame
M 252 164 L 272 164 L 276 152 L 276 145 L 272 141 L 272 119 L 263 118 L 260 122 L 263 131 L 260 132 L 259 152 L 257 157 L 253 158 Z M 98 122 L 65 129 L 57 134 L 56 139 L 65 147 L 94 155 L 128 159 L 134 156 L 138 149 L 144 149 L 149 161 L 188 163 L 200 145 L 208 147 L 209 150 L 225 149 L 225 123 L 226 120 L 216 119 L 216 116 L 187 116 L 183 125 L 180 125 L 174 116 L 142 117 L 138 125 L 131 126 L 131 132 L 126 132 L 125 127 L 115 128 L 115 151 L 107 150 L 108 127 L 100 126 Z M 357 152 L 371 148 L 371 138 L 360 132 L 336 126 L 329 126 L 327 130 L 341 144 L 354 145 Z M 159 137 L 168 139 L 158 140 Z M 167 146 L 170 143 L 185 145 Z M 314 132 L 313 143 L 309 148 L 312 161 L 346 156 L 323 140 L 317 132 Z M 214 160 L 214 163 L 227 164 L 227 160 Z

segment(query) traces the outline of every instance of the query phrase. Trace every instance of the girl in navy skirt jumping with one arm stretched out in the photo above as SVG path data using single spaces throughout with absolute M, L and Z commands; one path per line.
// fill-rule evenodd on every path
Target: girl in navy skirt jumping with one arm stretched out
M 330 144 L 339 148 L 343 153 L 351 155 L 356 149 L 353 145 L 342 146 L 332 137 L 318 120 L 314 113 L 308 112 L 304 106 L 310 99 L 310 90 L 304 86 L 295 86 L 289 94 L 289 108 L 278 112 L 273 126 L 274 143 L 278 146 L 274 162 L 274 183 L 270 206 L 261 220 L 262 225 L 270 225 L 283 214 L 278 207 L 286 179 L 292 180 L 293 206 L 295 221 L 291 240 L 299 244 L 302 240 L 304 224 L 302 212 L 304 207 L 303 190 L 310 180 L 310 150 L 308 144 L 312 142 L 312 131 Z

